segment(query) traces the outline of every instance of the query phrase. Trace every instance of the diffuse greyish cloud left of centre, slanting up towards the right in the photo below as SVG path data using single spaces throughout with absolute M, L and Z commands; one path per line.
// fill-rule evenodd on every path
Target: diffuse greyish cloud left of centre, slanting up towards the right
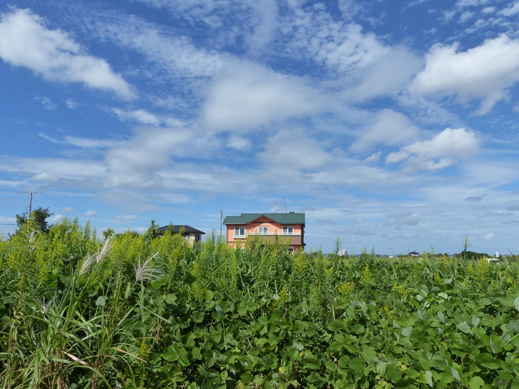
M 136 189 L 156 189 L 162 185 L 159 172 L 170 165 L 175 149 L 193 139 L 189 130 L 139 128 L 128 142 L 108 150 L 106 185 Z

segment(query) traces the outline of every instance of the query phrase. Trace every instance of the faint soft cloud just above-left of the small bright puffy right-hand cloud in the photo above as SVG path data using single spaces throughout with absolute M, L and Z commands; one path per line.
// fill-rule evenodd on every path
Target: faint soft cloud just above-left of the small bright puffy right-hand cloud
M 416 137 L 418 132 L 418 127 L 404 114 L 392 109 L 383 109 L 376 121 L 351 145 L 350 150 L 362 151 L 377 143 L 405 144 L 409 139 Z

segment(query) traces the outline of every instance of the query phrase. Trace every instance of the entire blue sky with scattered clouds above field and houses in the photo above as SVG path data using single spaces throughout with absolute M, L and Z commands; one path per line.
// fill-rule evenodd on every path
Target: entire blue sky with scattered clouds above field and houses
M 0 231 L 304 212 L 307 249 L 519 253 L 519 1 L 0 5 Z M 42 195 L 39 195 L 42 193 Z M 288 201 L 285 201 L 288 199 Z

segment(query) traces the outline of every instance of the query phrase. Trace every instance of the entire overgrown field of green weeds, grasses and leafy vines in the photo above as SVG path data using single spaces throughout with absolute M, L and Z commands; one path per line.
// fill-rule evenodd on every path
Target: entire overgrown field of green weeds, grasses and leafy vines
M 517 388 L 516 262 L 104 238 L 0 241 L 2 387 Z

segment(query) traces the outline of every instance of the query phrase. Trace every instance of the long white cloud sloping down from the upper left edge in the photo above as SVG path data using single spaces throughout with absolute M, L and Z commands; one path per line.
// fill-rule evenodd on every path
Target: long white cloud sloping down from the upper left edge
M 15 9 L 0 18 L 0 57 L 47 80 L 81 82 L 124 99 L 135 98 L 132 88 L 105 60 L 86 54 L 61 30 L 46 29 L 42 18 L 29 9 Z

